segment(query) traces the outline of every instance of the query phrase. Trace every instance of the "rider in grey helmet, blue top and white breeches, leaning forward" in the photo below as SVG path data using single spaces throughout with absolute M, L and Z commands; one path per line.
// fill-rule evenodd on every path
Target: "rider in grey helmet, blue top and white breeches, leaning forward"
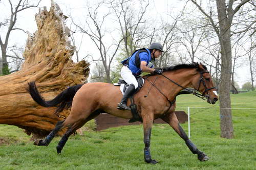
M 123 64 L 121 69 L 121 77 L 127 84 L 129 84 L 129 86 L 126 88 L 117 109 L 131 110 L 131 108 L 126 105 L 127 100 L 138 88 L 136 77 L 138 77 L 142 71 L 162 74 L 162 70 L 154 69 L 152 63 L 153 60 L 155 61 L 156 58 L 159 58 L 159 56 L 162 55 L 162 52 L 164 53 L 163 46 L 160 43 L 155 42 L 152 43 L 149 48 L 142 48 L 135 51 L 131 57 L 121 62 Z M 139 54 L 136 57 L 137 53 Z

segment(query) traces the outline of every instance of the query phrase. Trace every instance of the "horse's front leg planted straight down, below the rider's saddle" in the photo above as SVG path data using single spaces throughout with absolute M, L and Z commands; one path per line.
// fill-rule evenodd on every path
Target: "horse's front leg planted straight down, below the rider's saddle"
M 153 126 L 154 117 L 153 114 L 147 113 L 146 115 L 142 116 L 143 119 L 143 129 L 144 129 L 144 160 L 146 163 L 156 164 L 158 163 L 156 160 L 152 160 L 151 153 L 150 153 L 150 137 L 151 137 L 151 130 Z

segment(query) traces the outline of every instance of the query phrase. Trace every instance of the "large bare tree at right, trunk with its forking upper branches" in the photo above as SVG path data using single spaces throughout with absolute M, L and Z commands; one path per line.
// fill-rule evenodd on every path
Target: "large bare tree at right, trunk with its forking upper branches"
M 231 109 L 226 109 L 231 107 L 230 103 L 230 79 L 231 79 L 231 67 L 232 67 L 232 49 L 231 49 L 231 26 L 234 15 L 240 10 L 240 8 L 250 0 L 243 0 L 241 2 L 229 0 L 226 3 L 225 0 L 217 0 L 217 13 L 218 21 L 215 21 L 214 11 L 212 8 L 209 9 L 207 13 L 203 6 L 198 4 L 195 0 L 190 0 L 193 2 L 199 10 L 210 20 L 211 26 L 214 28 L 216 34 L 218 35 L 219 42 L 221 45 L 221 82 L 220 82 L 220 118 L 221 118 L 221 137 L 233 138 L 233 125 L 232 125 L 232 115 Z M 209 2 L 210 4 L 210 2 Z M 234 7 L 233 9 L 233 6 Z M 224 108 L 224 109 L 222 109 Z

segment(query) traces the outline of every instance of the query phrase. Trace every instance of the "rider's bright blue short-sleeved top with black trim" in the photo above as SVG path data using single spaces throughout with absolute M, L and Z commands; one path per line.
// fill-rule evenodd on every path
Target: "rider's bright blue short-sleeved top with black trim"
M 141 61 L 145 61 L 146 62 L 146 66 L 147 67 L 150 67 L 150 68 L 153 68 L 153 62 L 151 62 L 152 58 L 151 58 L 151 53 L 150 53 L 150 50 L 148 50 L 147 48 L 145 48 L 146 52 L 141 52 L 139 53 L 139 58 L 140 58 L 140 62 Z M 136 54 L 138 53 L 139 51 L 137 51 L 135 54 L 133 54 L 130 58 L 127 58 L 125 60 L 123 60 L 121 63 L 124 64 L 125 61 L 129 60 L 129 69 L 132 71 L 133 74 L 135 75 L 140 75 L 142 70 L 140 68 L 138 68 L 135 64 L 135 56 Z

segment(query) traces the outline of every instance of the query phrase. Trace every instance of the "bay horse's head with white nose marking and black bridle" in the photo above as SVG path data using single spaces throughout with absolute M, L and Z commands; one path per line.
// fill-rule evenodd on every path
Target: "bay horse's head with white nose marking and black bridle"
M 193 80 L 193 86 L 195 89 L 197 89 L 197 91 L 202 93 L 202 95 L 207 98 L 208 103 L 215 104 L 219 98 L 210 73 L 206 66 L 204 66 L 202 63 L 196 64 L 198 65 L 198 76 L 196 76 L 196 79 Z

